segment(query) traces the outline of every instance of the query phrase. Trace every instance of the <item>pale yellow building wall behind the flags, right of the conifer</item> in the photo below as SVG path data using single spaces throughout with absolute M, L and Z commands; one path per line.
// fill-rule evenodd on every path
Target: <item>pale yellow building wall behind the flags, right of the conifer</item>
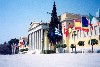
M 91 26 L 88 27 L 89 29 L 89 32 L 84 32 L 82 30 L 75 30 L 74 29 L 74 21 L 73 19 L 78 19 L 78 20 L 81 20 L 81 16 L 82 15 L 79 15 L 79 14 L 71 14 L 71 13 L 64 13 L 61 15 L 61 22 L 62 22 L 62 33 L 63 33 L 63 43 L 67 45 L 67 50 L 69 52 L 71 52 L 71 44 L 75 44 L 76 45 L 76 50 L 77 51 L 81 51 L 82 50 L 82 47 L 78 45 L 78 42 L 79 41 L 84 41 L 84 51 L 87 51 L 87 50 L 91 50 L 92 47 L 91 45 L 88 44 L 88 41 L 91 39 L 96 39 L 98 40 L 98 44 L 97 45 L 94 45 L 94 50 L 99 50 L 100 49 L 100 23 L 97 22 L 95 24 L 93 24 L 93 30 L 90 30 Z M 68 37 L 66 37 L 66 35 L 64 34 L 64 26 L 66 28 L 68 28 L 68 24 L 72 24 L 73 25 L 73 31 L 76 32 L 76 36 L 74 37 L 73 36 L 73 33 L 70 33 L 68 34 Z

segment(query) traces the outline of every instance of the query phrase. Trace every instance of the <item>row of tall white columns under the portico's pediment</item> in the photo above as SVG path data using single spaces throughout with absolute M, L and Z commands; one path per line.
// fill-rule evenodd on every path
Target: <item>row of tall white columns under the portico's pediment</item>
M 29 49 L 43 50 L 43 29 L 39 29 L 29 34 Z

